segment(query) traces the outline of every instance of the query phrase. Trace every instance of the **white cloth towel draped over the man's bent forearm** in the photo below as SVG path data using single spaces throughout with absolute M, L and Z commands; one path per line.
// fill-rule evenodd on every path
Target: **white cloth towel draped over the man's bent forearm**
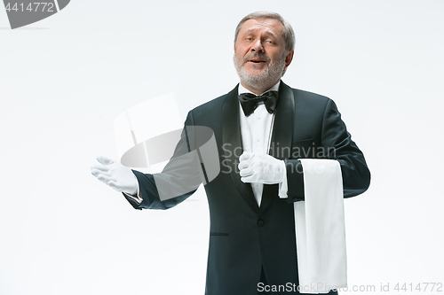
M 339 162 L 301 159 L 305 201 L 296 202 L 301 293 L 328 293 L 347 284 L 344 193 Z

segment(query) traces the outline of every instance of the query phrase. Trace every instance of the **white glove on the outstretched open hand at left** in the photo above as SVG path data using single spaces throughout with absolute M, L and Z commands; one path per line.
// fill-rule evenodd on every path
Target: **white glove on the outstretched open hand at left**
M 103 156 L 97 157 L 97 160 L 100 164 L 91 166 L 91 174 L 96 176 L 100 182 L 132 196 L 138 193 L 139 182 L 129 167 Z

